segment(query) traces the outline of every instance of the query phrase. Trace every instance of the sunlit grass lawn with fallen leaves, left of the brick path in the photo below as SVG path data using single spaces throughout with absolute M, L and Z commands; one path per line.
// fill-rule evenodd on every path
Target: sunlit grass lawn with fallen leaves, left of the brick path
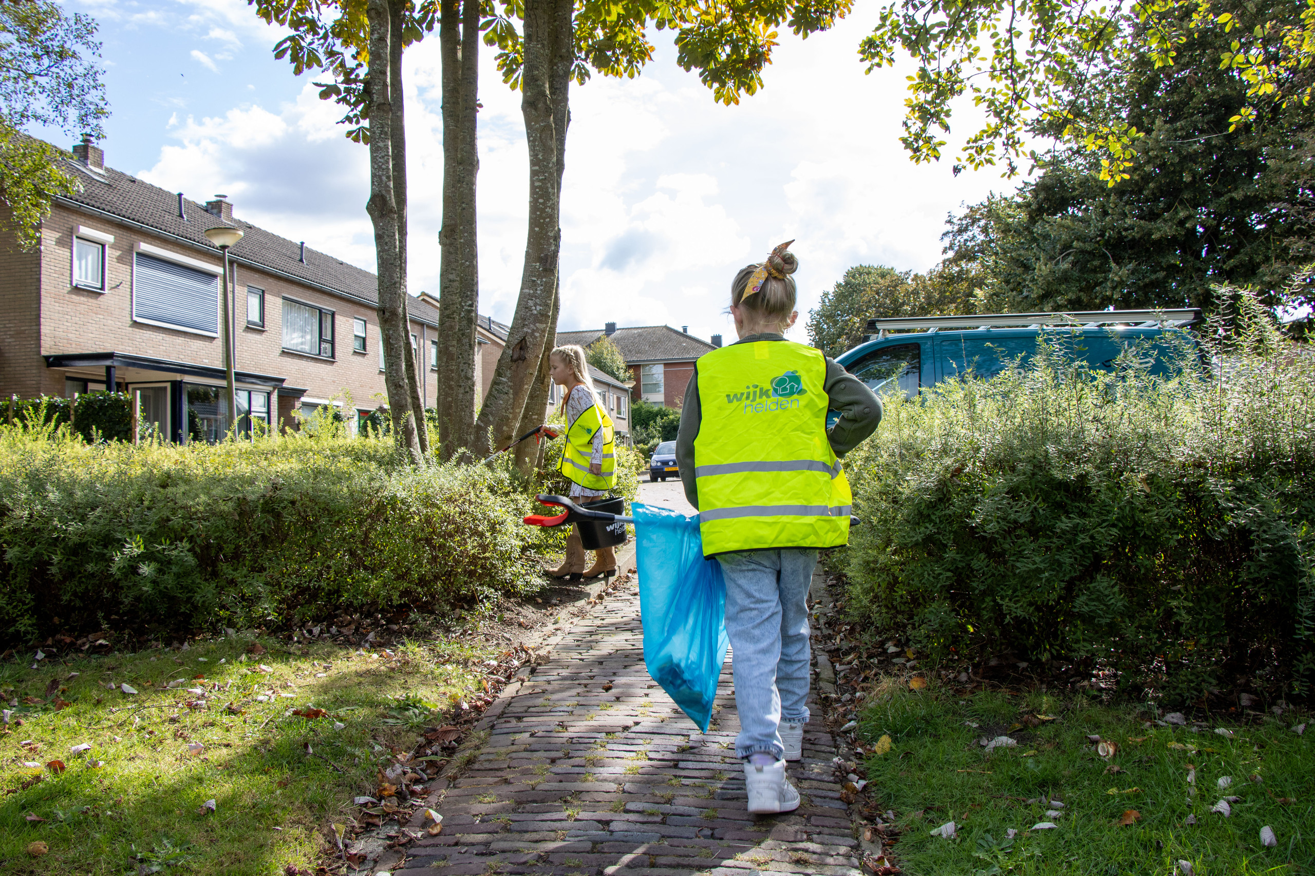
M 4 701 L 18 701 L 0 730 L 0 872 L 313 871 L 330 825 L 360 817 L 352 796 L 375 793 L 393 750 L 410 751 L 418 728 L 452 721 L 485 690 L 476 663 L 502 649 L 471 641 L 293 653 L 238 634 L 0 665 Z M 291 714 L 308 708 L 326 714 Z M 49 851 L 33 856 L 36 842 Z

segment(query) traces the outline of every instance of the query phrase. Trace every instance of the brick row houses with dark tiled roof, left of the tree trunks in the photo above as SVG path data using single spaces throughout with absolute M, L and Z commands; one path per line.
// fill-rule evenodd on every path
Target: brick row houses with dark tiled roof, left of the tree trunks
M 222 259 L 204 234 L 222 225 L 243 231 L 229 251 L 239 428 L 295 428 L 295 410 L 323 405 L 355 424 L 385 402 L 375 274 L 234 218 L 224 196 L 200 205 L 105 167 L 91 142 L 74 152 L 83 192 L 54 200 L 39 250 L 0 236 L 4 397 L 141 390 L 143 426 L 170 440 L 226 431 Z M 438 310 L 408 309 L 430 406 Z

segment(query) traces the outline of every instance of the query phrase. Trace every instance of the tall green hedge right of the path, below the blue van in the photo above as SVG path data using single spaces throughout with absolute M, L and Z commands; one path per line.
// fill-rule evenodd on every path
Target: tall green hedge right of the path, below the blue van
M 864 524 L 835 561 L 874 640 L 1011 654 L 1186 701 L 1315 670 L 1315 355 L 1249 299 L 1173 377 L 1063 344 L 989 382 L 892 401 L 846 468 Z M 1206 338 L 1215 338 L 1205 332 Z

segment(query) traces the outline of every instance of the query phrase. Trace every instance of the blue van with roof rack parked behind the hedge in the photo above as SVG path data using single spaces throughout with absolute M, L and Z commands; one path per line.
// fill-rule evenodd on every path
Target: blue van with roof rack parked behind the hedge
M 1201 320 L 1190 310 L 1098 310 L 1068 314 L 977 314 L 869 319 L 868 340 L 836 361 L 873 391 L 917 395 L 924 386 L 969 370 L 990 378 L 1036 353 L 1041 332 L 1063 334 L 1093 368 L 1112 368 L 1134 341 L 1152 339 L 1152 373 L 1166 369 L 1156 339 Z M 890 334 L 899 332 L 899 334 Z M 1162 349 L 1162 348 L 1161 348 Z M 1164 351 L 1168 352 L 1168 351 Z

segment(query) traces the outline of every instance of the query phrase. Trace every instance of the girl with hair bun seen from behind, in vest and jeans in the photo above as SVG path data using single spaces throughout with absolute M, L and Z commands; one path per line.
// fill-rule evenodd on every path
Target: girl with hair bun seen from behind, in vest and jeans
M 785 762 L 802 756 L 809 720 L 805 600 L 818 550 L 849 538 L 849 485 L 838 457 L 881 422 L 872 390 L 782 336 L 798 318 L 790 243 L 735 274 L 739 341 L 696 364 L 676 437 L 704 556 L 717 557 L 726 578 L 742 728 L 735 754 L 755 813 L 800 805 Z M 830 429 L 828 408 L 840 411 Z

